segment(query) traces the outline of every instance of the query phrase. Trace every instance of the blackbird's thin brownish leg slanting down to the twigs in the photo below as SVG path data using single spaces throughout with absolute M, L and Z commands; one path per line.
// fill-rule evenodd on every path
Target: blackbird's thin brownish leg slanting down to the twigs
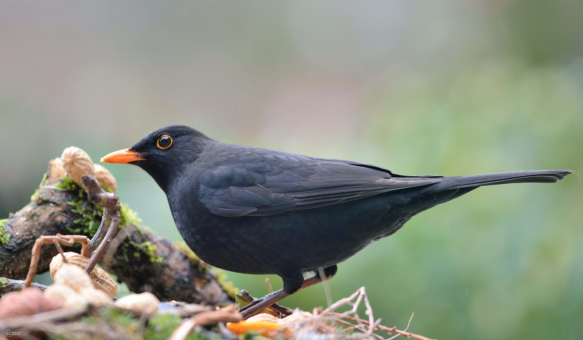
M 332 276 L 334 276 L 334 274 L 336 274 L 337 269 L 338 269 L 338 267 L 336 267 L 336 265 L 332 265 L 330 267 L 324 268 L 324 274 L 326 275 L 326 279 L 328 279 L 328 280 L 331 279 Z M 301 273 L 300 273 L 300 275 L 301 275 Z M 303 284 L 299 288 L 294 289 L 294 287 L 289 287 L 290 281 L 287 281 L 287 280 L 291 279 L 290 277 L 282 276 L 282 279 L 284 282 L 283 289 L 280 289 L 277 292 L 273 292 L 273 293 L 268 294 L 264 297 L 261 297 L 261 299 L 254 300 L 253 302 L 251 302 L 247 306 L 241 307 L 239 309 L 239 311 L 241 312 L 241 315 L 243 316 L 243 318 L 245 318 L 245 319 L 250 318 L 250 317 L 254 316 L 255 314 L 259 313 L 259 311 L 266 309 L 267 307 L 278 302 L 279 300 L 283 299 L 284 297 L 290 296 L 293 293 L 296 293 L 300 289 L 308 288 L 310 286 L 315 285 L 316 283 L 322 282 L 322 278 L 320 278 L 318 273 L 316 273 L 316 275 L 311 276 L 310 278 L 303 280 Z M 295 282 L 297 282 L 297 279 L 293 280 L 293 281 L 295 283 Z M 286 285 L 286 282 L 288 283 L 288 285 Z M 293 285 L 293 283 L 292 283 L 292 285 Z M 286 291 L 289 293 L 286 293 Z

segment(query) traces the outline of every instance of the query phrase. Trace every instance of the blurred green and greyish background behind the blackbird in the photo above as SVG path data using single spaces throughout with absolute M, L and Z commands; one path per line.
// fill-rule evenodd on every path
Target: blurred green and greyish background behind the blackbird
M 423 212 L 329 284 L 432 338 L 581 339 L 582 36 L 581 1 L 2 1 L 0 218 L 67 146 L 97 162 L 167 124 L 403 174 L 579 170 Z M 152 178 L 106 166 L 180 240 Z M 324 289 L 283 304 L 325 306 Z

